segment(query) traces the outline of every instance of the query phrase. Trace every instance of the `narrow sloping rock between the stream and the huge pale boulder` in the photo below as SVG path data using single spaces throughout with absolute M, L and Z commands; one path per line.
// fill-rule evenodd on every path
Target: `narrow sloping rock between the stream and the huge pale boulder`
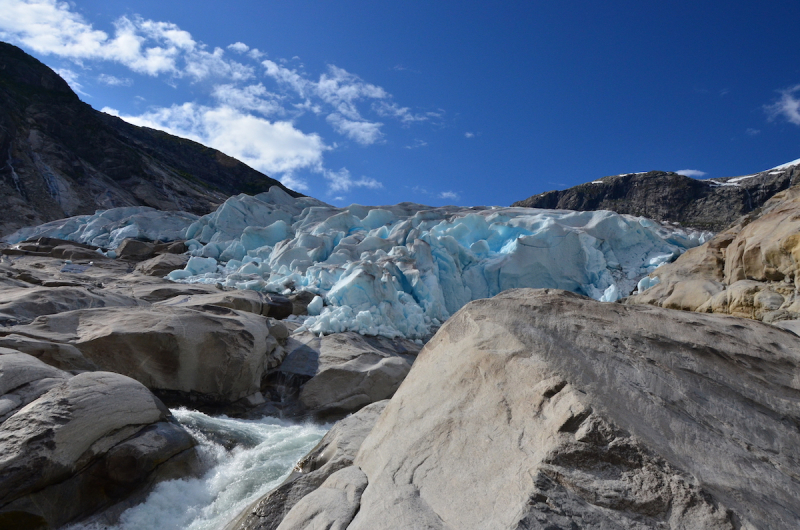
M 367 405 L 337 421 L 283 484 L 248 507 L 226 530 L 275 530 L 295 504 L 332 474 L 353 464 L 361 443 L 387 403 L 384 400 Z

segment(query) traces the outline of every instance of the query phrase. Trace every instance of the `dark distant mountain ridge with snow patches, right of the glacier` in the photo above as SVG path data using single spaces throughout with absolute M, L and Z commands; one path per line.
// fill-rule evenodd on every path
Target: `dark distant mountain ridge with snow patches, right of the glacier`
M 648 171 L 603 177 L 566 190 L 540 193 L 512 206 L 611 210 L 718 232 L 797 183 L 800 183 L 800 160 L 753 175 L 709 180 Z

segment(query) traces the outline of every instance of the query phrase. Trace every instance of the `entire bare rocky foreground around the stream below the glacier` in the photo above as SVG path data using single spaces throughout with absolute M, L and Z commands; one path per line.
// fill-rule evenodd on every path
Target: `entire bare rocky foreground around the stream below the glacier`
M 199 472 L 167 403 L 351 414 L 227 530 L 797 528 L 799 213 L 777 194 L 624 303 L 470 302 L 421 351 L 309 332 L 306 291 L 165 280 L 181 242 L 0 249 L 0 527 Z

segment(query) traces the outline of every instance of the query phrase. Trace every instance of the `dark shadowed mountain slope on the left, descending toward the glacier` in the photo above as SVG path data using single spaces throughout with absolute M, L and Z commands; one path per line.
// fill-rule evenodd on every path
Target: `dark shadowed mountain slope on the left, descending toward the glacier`
M 94 110 L 66 81 L 0 42 L 0 235 L 98 209 L 206 214 L 279 186 L 216 149 Z

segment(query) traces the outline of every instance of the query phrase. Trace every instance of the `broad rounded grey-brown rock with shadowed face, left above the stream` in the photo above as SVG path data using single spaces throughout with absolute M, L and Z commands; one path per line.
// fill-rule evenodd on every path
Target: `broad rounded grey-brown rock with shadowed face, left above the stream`
M 269 335 L 264 317 L 216 306 L 69 311 L 9 331 L 71 344 L 102 370 L 210 404 L 260 391 Z

